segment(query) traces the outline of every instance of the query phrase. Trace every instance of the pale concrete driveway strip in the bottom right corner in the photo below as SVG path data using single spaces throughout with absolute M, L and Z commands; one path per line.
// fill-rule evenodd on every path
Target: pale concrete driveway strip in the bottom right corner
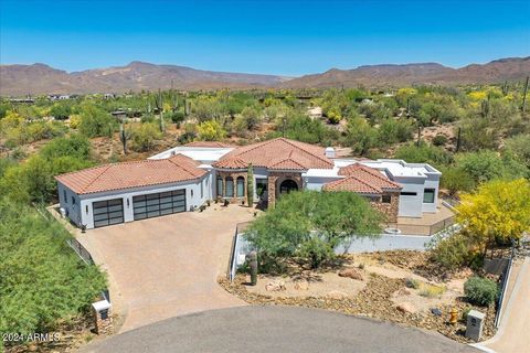
M 497 353 L 530 353 L 530 258 L 519 271 L 497 334 L 479 344 Z

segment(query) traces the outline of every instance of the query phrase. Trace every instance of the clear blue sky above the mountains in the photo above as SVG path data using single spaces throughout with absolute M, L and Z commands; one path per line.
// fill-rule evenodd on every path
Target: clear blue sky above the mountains
M 0 63 L 68 72 L 146 61 L 296 76 L 528 55 L 530 0 L 0 0 Z

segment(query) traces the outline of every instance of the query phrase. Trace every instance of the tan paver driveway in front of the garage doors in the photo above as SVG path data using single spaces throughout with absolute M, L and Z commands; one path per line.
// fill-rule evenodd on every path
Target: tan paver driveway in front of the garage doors
M 214 210 L 216 208 L 216 210 Z M 243 306 L 216 284 L 226 271 L 235 225 L 248 208 L 212 206 L 87 231 L 80 236 L 109 275 L 120 332 L 171 317 Z

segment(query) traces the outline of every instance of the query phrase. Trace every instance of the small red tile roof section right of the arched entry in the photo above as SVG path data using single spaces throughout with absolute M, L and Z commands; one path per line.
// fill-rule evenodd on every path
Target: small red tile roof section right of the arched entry
M 326 191 L 351 191 L 367 194 L 381 194 L 384 191 L 400 191 L 401 185 L 395 183 L 377 169 L 362 164 L 351 164 L 339 170 L 340 179 L 324 185 Z

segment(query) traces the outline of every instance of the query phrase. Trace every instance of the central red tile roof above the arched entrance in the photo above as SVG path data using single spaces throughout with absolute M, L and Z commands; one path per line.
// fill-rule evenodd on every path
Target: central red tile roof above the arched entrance
M 331 169 L 333 162 L 325 156 L 325 149 L 318 146 L 277 138 L 264 142 L 236 148 L 223 159 L 239 158 L 254 167 L 271 169 Z

